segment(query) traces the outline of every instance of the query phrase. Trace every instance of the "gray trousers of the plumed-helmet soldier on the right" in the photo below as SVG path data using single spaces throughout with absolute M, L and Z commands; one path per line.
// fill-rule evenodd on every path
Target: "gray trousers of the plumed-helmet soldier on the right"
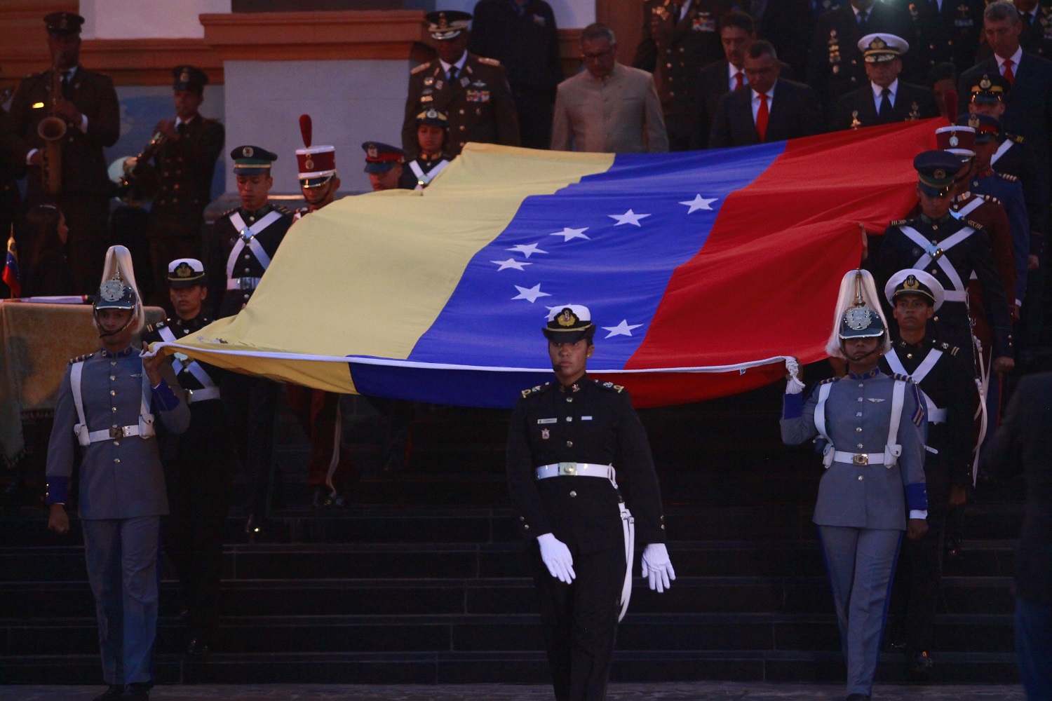
M 820 525 L 818 537 L 848 665 L 848 694 L 869 695 L 903 532 Z

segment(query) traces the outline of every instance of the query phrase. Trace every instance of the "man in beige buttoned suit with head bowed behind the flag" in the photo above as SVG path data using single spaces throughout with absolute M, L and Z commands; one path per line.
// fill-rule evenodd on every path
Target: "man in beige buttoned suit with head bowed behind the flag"
M 585 27 L 581 58 L 587 70 L 559 84 L 552 150 L 667 151 L 668 137 L 653 77 L 618 63 L 613 32 L 598 23 Z

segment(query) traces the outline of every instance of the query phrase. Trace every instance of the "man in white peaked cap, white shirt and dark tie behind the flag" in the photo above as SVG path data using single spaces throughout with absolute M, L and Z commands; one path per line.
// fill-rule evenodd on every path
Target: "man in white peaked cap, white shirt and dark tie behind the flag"
M 858 40 L 858 49 L 869 83 L 837 101 L 829 123 L 832 130 L 938 117 L 934 92 L 898 80 L 903 54 L 909 50 L 906 40 L 890 34 L 871 34 Z

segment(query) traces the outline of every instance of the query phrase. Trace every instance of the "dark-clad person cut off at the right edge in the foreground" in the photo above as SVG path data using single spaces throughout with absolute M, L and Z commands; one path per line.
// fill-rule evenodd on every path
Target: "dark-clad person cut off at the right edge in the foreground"
M 1052 372 L 1019 380 L 983 451 L 986 470 L 1024 473 L 1027 511 L 1015 556 L 1015 651 L 1028 699 L 1052 696 Z

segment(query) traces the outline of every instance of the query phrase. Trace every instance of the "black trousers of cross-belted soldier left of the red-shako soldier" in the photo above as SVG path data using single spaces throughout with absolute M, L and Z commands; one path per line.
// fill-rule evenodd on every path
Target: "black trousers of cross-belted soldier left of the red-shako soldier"
M 226 422 L 249 484 L 248 512 L 262 517 L 270 503 L 274 421 L 282 386 L 264 377 L 229 372 L 221 385 Z

